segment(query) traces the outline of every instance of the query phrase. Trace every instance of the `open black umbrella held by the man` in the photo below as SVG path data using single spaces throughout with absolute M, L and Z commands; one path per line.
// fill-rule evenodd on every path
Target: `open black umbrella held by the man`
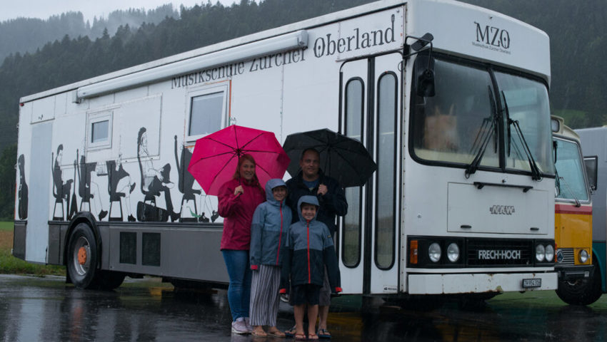
M 321 155 L 321 170 L 338 180 L 342 187 L 360 187 L 377 170 L 377 165 L 364 145 L 332 130 L 310 130 L 286 137 L 283 149 L 291 158 L 287 171 L 295 177 L 299 170 L 301 152 L 314 148 Z

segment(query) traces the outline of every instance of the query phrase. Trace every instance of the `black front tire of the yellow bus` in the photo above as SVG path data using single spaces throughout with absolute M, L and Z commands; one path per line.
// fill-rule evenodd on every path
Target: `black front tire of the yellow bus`
M 589 305 L 597 301 L 602 294 L 601 270 L 593 262 L 593 276 L 590 280 L 561 281 L 558 280 L 556 295 L 569 305 Z

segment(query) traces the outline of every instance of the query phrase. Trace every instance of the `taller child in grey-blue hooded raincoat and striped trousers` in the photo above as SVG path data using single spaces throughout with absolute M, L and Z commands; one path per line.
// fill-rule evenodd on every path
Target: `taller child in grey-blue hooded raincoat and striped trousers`
M 291 224 L 291 208 L 286 206 L 285 198 L 285 182 L 269 180 L 266 183 L 266 202 L 255 209 L 251 222 L 249 260 L 253 276 L 249 316 L 254 336 L 285 336 L 276 328 L 280 304 L 280 259 L 286 231 Z M 267 333 L 263 326 L 269 326 Z

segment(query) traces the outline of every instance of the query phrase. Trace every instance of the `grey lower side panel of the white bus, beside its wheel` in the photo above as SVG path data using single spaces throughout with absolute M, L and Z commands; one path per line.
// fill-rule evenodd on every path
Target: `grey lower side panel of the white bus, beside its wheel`
M 229 281 L 221 224 L 97 222 L 101 269 L 198 281 Z M 49 264 L 63 264 L 66 222 L 49 222 Z

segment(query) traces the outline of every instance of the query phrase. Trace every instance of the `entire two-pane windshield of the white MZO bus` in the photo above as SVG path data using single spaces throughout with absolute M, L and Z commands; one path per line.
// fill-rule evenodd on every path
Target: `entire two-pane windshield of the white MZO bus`
M 546 86 L 484 65 L 439 58 L 434 73 L 436 95 L 414 95 L 411 101 L 416 159 L 467 167 L 481 155 L 483 170 L 531 172 L 526 142 L 539 170 L 553 175 Z

